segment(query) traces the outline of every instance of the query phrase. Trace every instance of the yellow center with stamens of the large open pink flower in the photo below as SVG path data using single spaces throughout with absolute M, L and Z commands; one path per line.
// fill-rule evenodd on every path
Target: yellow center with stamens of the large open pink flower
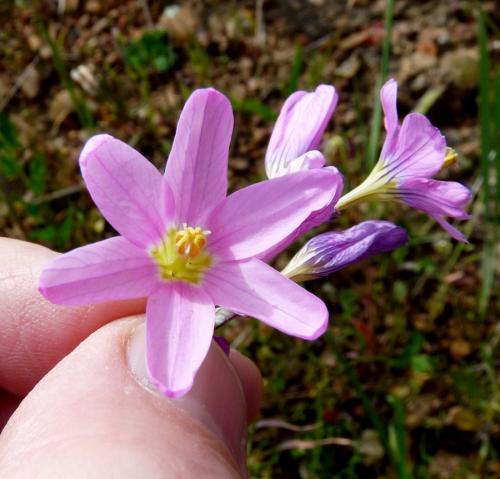
M 164 281 L 187 281 L 198 284 L 212 265 L 212 256 L 205 250 L 210 231 L 186 224 L 171 228 L 150 254 Z

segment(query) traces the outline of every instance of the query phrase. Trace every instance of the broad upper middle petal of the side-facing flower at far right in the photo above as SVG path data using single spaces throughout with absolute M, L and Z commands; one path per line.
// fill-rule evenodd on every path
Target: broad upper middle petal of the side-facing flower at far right
M 389 179 L 431 177 L 441 169 L 446 155 L 445 138 L 420 113 L 407 115 L 396 141 L 387 145 L 384 144 L 381 161 L 384 176 Z

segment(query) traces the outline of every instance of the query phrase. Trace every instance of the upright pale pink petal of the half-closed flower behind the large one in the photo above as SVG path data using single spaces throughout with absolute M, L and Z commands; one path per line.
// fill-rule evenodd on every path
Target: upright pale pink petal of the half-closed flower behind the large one
M 317 148 L 337 101 L 337 92 L 330 85 L 320 85 L 311 93 L 295 92 L 285 101 L 266 152 L 269 178 L 287 174 L 291 162 Z M 308 165 L 299 162 L 296 166 L 300 164 Z

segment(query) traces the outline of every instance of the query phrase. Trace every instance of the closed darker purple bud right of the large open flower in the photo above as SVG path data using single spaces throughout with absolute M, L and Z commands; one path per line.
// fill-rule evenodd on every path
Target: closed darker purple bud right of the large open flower
M 388 221 L 365 221 L 345 231 L 330 231 L 310 239 L 282 274 L 294 281 L 328 276 L 407 242 L 408 235 L 403 228 Z

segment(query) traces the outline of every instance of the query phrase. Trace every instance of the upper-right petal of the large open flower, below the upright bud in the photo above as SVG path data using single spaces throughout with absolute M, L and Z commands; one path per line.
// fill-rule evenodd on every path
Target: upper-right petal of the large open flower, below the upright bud
M 323 169 L 262 181 L 228 196 L 207 221 L 208 248 L 220 258 L 264 253 L 294 233 L 309 216 L 329 206 L 342 178 Z

